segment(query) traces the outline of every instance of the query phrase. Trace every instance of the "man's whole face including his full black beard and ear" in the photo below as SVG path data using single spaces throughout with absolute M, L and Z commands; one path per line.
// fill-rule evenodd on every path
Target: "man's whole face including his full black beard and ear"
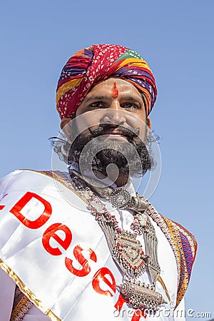
M 69 119 L 64 118 L 61 126 Z M 68 163 L 84 172 L 107 175 L 110 164 L 126 176 L 143 175 L 151 169 L 143 142 L 148 136 L 143 98 L 128 81 L 108 78 L 94 86 L 63 131 L 72 142 Z

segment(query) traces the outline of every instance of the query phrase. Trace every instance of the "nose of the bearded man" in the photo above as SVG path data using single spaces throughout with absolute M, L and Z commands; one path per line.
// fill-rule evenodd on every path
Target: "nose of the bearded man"
M 126 111 L 123 110 L 118 101 L 113 101 L 108 108 L 103 109 L 103 123 L 113 123 L 116 125 L 126 122 Z

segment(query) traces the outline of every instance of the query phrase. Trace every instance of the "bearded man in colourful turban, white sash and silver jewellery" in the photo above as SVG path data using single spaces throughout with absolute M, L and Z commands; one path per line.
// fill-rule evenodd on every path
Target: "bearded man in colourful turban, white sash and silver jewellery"
M 1 180 L 3 321 L 185 320 L 195 239 L 133 187 L 154 167 L 156 96 L 146 61 L 122 46 L 63 67 L 54 150 L 68 172 Z

